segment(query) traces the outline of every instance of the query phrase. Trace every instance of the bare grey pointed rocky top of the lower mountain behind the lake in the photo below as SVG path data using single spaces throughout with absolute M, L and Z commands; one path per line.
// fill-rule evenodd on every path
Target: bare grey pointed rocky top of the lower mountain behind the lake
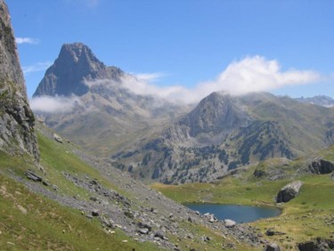
M 248 113 L 229 94 L 211 93 L 195 109 L 167 130 L 167 138 L 176 142 L 218 144 L 224 135 L 248 123 Z M 181 133 L 183 132 L 183 134 Z

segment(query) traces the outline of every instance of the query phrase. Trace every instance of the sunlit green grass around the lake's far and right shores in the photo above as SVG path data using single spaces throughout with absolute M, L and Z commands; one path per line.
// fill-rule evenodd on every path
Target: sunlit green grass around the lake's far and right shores
M 331 155 L 330 155 L 331 152 Z M 333 156 L 334 150 L 326 150 Z M 252 177 L 256 166 L 250 167 L 242 178 L 228 176 L 216 183 L 192 183 L 182 186 L 154 184 L 152 187 L 178 202 L 213 202 L 222 204 L 268 205 L 274 206 L 277 192 L 288 182 L 265 181 Z M 287 233 L 283 236 L 267 237 L 281 243 L 286 249 L 296 247 L 296 243 L 322 237 L 333 239 L 333 224 L 328 223 L 334 216 L 334 182 L 330 174 L 306 175 L 301 177 L 304 184 L 297 198 L 280 205 L 280 216 L 250 223 L 265 233 L 268 228 Z M 326 223 L 327 221 L 327 223 Z M 333 220 L 331 220 L 333 221 Z

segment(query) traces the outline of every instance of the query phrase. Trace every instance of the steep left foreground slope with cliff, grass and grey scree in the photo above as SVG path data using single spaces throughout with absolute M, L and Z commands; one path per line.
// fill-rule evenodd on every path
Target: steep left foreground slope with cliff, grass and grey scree
M 260 245 L 254 229 L 230 230 L 222 222 L 210 223 L 207 217 L 135 182 L 111 167 L 109 160 L 87 156 L 39 123 L 34 127 L 3 0 L 0 13 L 2 250 L 215 250 L 227 246 L 252 250 Z M 241 238 L 245 232 L 247 239 Z

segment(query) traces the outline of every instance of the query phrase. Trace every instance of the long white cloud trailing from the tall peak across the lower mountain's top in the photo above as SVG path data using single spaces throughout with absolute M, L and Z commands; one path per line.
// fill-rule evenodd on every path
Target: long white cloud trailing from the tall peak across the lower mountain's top
M 191 103 L 200 101 L 213 92 L 224 91 L 232 95 L 269 92 L 288 85 L 306 85 L 322 79 L 313 70 L 281 70 L 278 61 L 268 61 L 264 57 L 246 57 L 233 61 L 216 79 L 185 88 L 182 85 L 152 85 L 151 79 L 163 77 L 159 73 L 126 76 L 123 85 L 136 94 L 151 94 L 168 101 Z

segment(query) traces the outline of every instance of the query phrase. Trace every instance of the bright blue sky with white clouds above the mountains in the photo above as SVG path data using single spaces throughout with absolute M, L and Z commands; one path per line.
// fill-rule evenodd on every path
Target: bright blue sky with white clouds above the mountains
M 134 74 L 136 93 L 334 98 L 334 1 L 6 0 L 29 97 L 61 45 Z M 135 87 L 134 87 L 135 85 Z M 138 86 L 137 86 L 138 85 Z

